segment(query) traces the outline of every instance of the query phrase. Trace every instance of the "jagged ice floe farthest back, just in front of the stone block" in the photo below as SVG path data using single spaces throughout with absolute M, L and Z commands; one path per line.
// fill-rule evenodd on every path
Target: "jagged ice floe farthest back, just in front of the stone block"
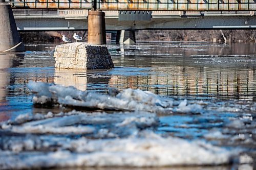
M 186 100 L 174 107 L 174 100 L 162 98 L 150 91 L 124 89 L 119 92 L 110 88 L 110 95 L 81 91 L 73 86 L 64 87 L 53 83 L 32 82 L 28 88 L 34 93 L 34 105 L 61 105 L 75 108 L 94 108 L 102 110 L 147 111 L 154 113 L 201 113 L 198 104 L 189 105 Z M 114 91 L 114 92 L 113 92 Z

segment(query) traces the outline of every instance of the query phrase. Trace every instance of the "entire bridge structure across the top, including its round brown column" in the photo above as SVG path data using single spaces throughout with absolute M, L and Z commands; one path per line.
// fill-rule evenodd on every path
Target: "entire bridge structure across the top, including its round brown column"
M 105 30 L 117 31 L 120 43 L 135 43 L 134 30 L 141 29 L 256 28 L 256 0 L 0 0 L 1 4 L 11 6 L 18 31 L 88 30 L 88 41 L 96 44 L 105 43 Z

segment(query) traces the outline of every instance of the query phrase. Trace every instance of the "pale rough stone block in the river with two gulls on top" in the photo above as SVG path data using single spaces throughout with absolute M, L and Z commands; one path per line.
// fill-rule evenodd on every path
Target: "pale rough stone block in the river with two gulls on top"
M 56 68 L 105 69 L 114 68 L 106 46 L 74 42 L 55 47 L 53 57 Z

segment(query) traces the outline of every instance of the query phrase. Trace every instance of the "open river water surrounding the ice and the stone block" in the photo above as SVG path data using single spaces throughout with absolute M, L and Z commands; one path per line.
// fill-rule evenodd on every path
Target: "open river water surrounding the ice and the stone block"
M 203 110 L 196 112 L 197 114 L 191 113 L 193 111 L 156 114 L 159 123 L 157 126 L 150 126 L 150 131 L 162 137 L 203 141 L 239 153 L 240 163 L 235 161 L 236 163 L 227 165 L 206 167 L 183 167 L 182 165 L 185 165 L 183 163 L 178 167 L 171 166 L 163 169 L 255 168 L 255 161 L 253 161 L 256 155 L 255 43 L 156 41 L 139 42 L 136 45 L 108 44 L 107 46 L 115 64 L 114 69 L 88 71 L 55 69 L 53 58 L 55 44 L 29 44 L 26 46 L 25 53 L 0 54 L 0 122 L 2 125 L 8 121 L 15 123 L 15 118 L 20 115 L 36 113 L 46 115 L 49 111 L 57 114 L 63 111 L 63 108 L 33 107 L 33 94 L 27 87 L 30 80 L 75 86 L 80 90 L 100 94 L 106 94 L 109 86 L 118 88 L 120 91 L 139 88 L 174 100 L 174 103 L 177 102 L 174 106 L 186 101 L 188 105 L 200 105 Z M 110 126 L 108 122 L 104 124 L 104 128 L 108 129 Z M 72 126 L 76 127 L 77 124 Z M 95 126 L 102 129 L 101 125 Z M 0 133 L 2 138 L 0 149 L 4 151 L 12 150 L 10 147 L 5 147 L 6 140 L 24 141 L 29 134 L 33 137 L 56 137 L 56 140 L 73 140 L 81 136 L 105 138 L 97 135 L 74 137 L 70 134 L 55 136 L 51 132 L 50 134 L 40 132 L 39 135 L 33 132 L 22 132 L 23 139 L 20 139 L 18 132 L 6 131 L 3 126 Z M 128 131 L 127 133 L 130 134 Z M 119 132 L 116 134 L 119 135 L 118 138 L 122 138 L 123 134 L 120 135 Z M 127 136 L 129 135 L 123 135 L 123 137 Z M 18 150 L 19 153 L 30 152 L 31 154 L 35 154 L 35 151 L 39 150 L 33 148 L 27 151 L 24 147 Z M 44 151 L 52 152 L 53 150 L 51 147 L 46 147 Z M 3 155 L 0 156 L 3 157 Z M 44 167 L 41 164 L 38 166 Z M 124 167 L 118 169 L 126 169 L 127 164 L 120 164 L 120 166 Z M 17 168 L 19 165 L 13 167 Z

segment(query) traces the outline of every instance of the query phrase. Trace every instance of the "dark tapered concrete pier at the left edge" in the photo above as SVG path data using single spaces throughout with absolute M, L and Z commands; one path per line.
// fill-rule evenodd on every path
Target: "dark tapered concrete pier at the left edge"
M 0 23 L 0 52 L 24 52 L 11 6 L 5 0 L 0 0 Z

